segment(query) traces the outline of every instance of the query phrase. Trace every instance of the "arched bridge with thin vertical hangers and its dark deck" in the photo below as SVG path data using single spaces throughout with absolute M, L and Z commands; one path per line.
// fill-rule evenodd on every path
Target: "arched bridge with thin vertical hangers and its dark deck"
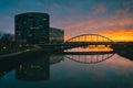
M 124 42 L 113 42 L 106 36 L 99 34 L 82 34 L 66 40 L 63 43 L 59 44 L 35 44 L 44 48 L 74 48 L 79 46 L 89 46 L 89 45 L 124 45 Z

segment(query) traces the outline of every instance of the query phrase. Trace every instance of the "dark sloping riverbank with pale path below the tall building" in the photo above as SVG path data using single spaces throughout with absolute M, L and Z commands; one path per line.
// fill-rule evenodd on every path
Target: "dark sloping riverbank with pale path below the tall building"
M 24 48 L 24 50 L 18 50 L 18 48 L 13 48 L 13 50 L 4 50 L 4 51 L 0 51 L 0 59 L 8 59 L 8 58 L 24 58 L 24 57 L 32 57 L 32 56 L 38 56 L 41 54 L 49 54 L 49 53 L 53 53 L 54 50 L 44 50 L 44 48 L 37 48 L 37 47 L 30 47 L 30 48 Z

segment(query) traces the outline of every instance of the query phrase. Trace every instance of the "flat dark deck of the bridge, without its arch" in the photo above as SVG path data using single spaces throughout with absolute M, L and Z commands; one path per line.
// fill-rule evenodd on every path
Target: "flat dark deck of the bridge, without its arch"
M 64 42 L 59 44 L 35 44 L 44 48 L 73 48 L 78 46 L 88 45 L 127 45 L 133 44 L 132 42 Z

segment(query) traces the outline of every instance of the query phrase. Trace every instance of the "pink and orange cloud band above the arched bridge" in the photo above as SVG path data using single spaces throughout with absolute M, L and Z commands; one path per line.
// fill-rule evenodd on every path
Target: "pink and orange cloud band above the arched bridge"
M 76 22 L 69 26 L 65 26 L 64 30 L 66 37 L 73 37 L 81 34 L 99 33 L 109 36 L 114 41 L 133 41 L 132 25 L 133 25 L 133 18 L 131 15 L 127 15 L 126 13 L 120 15 L 116 13 L 114 15 L 94 18 L 94 19 Z M 109 32 L 117 33 L 117 34 L 110 35 Z

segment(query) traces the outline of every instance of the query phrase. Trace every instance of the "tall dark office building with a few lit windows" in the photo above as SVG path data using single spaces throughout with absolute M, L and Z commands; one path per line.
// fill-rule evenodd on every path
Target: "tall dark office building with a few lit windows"
M 49 43 L 49 14 L 28 12 L 16 15 L 16 41 Z

